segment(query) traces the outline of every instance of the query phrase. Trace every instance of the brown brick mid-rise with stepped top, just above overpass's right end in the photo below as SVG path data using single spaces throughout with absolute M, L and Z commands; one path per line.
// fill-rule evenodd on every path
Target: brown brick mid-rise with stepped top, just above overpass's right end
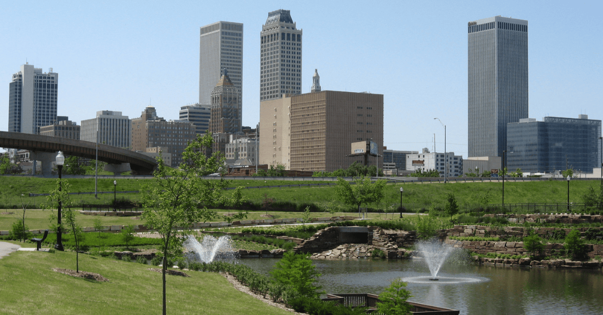
M 186 120 L 165 120 L 157 117 L 154 107 L 148 106 L 139 118 L 132 119 L 132 151 L 171 154 L 171 167 L 182 163 L 182 152 L 197 137 L 195 125 Z M 167 161 L 164 161 L 167 163 Z

